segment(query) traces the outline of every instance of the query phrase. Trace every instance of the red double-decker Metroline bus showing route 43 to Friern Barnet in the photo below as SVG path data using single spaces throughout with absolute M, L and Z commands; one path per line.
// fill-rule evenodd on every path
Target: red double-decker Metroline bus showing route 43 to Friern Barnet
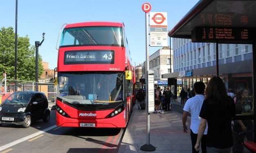
M 56 125 L 126 127 L 135 74 L 124 24 L 67 24 L 58 50 Z

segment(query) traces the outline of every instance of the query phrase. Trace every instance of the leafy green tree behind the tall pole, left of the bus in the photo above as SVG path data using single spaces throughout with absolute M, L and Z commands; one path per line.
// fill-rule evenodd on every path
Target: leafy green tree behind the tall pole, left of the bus
M 36 80 L 36 47 L 29 37 L 17 39 L 17 80 Z M 7 72 L 7 79 L 15 79 L 15 33 L 13 27 L 0 29 L 0 74 Z M 38 76 L 43 72 L 42 57 L 38 55 Z

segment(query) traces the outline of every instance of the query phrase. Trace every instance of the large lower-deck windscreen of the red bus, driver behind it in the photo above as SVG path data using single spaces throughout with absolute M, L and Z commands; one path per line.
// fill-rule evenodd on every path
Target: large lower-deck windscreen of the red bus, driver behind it
M 107 104 L 123 101 L 124 72 L 59 72 L 60 98 L 73 104 Z

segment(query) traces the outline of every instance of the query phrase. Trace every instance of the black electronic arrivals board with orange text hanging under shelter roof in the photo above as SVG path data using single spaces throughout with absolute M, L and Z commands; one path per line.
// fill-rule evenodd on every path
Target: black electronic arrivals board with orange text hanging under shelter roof
M 192 30 L 192 42 L 218 42 L 246 44 L 255 40 L 254 28 L 196 27 Z

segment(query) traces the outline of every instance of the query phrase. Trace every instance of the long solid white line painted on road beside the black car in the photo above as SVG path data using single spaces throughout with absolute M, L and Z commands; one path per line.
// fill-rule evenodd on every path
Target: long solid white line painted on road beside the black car
M 35 136 L 38 136 L 38 135 L 40 135 L 40 134 L 42 134 L 42 133 L 44 133 L 44 132 L 46 132 L 46 131 L 49 131 L 49 130 L 51 130 L 51 129 L 54 129 L 54 128 L 56 128 L 56 127 L 57 127 L 56 125 L 53 125 L 53 126 L 51 126 L 51 127 L 48 127 L 48 128 L 46 128 L 46 129 L 43 129 L 42 131 L 38 131 L 38 132 L 36 132 L 36 133 L 33 133 L 33 134 L 31 134 L 31 135 L 29 135 L 29 136 L 26 136 L 26 137 L 24 137 L 24 138 L 21 138 L 21 139 L 19 139 L 19 140 L 10 142 L 9 144 L 5 144 L 5 145 L 3 145 L 3 146 L 0 146 L 0 151 L 2 151 L 2 150 L 4 150 L 4 149 L 7 149 L 7 148 L 9 148 L 9 147 L 11 147 L 11 146 L 14 146 L 14 145 L 16 145 L 16 144 L 19 144 L 20 142 L 29 140 L 29 139 L 31 139 L 31 138 L 33 138 L 33 137 L 35 137 Z

